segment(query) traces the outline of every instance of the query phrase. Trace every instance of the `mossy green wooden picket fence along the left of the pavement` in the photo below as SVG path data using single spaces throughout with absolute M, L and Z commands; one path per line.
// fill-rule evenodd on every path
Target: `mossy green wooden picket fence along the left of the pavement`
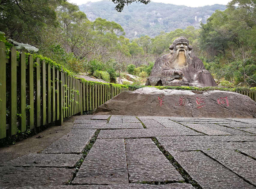
M 6 58 L 0 42 L 0 139 L 63 118 L 94 110 L 125 90 L 112 84 L 89 83 L 46 64 L 33 55 L 17 54 L 15 47 Z M 10 112 L 10 113 L 9 113 Z

